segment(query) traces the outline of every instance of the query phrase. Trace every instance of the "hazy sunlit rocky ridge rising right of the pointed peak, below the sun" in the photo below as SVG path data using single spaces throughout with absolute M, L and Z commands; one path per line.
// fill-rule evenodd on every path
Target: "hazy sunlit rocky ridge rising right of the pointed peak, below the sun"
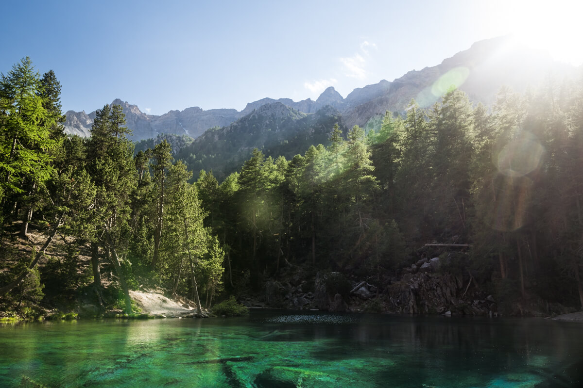
M 536 87 L 553 74 L 574 73 L 573 67 L 554 62 L 549 55 L 521 46 L 510 38 L 476 42 L 468 50 L 437 66 L 412 70 L 392 82 L 355 89 L 347 95 L 342 116 L 347 126 L 363 126 L 385 111 L 404 112 L 412 98 L 422 108 L 433 105 L 450 86 L 466 92 L 470 101 L 493 104 L 503 86 L 514 92 Z

